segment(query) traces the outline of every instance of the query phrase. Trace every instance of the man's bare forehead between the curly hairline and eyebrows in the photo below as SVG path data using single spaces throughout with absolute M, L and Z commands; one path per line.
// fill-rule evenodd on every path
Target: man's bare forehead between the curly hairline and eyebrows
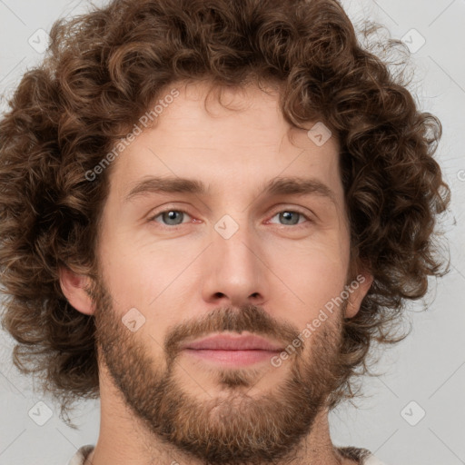
M 211 193 L 230 185 L 237 194 L 275 177 L 312 176 L 341 195 L 335 137 L 318 145 L 306 130 L 292 128 L 277 92 L 251 85 L 208 94 L 209 85 L 195 83 L 166 94 L 173 88 L 178 96 L 114 162 L 112 184 L 122 201 L 151 175 L 203 179 Z

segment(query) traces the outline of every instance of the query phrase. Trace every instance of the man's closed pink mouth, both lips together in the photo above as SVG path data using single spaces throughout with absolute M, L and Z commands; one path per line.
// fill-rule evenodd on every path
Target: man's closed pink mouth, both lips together
M 251 365 L 283 351 L 281 343 L 253 334 L 215 334 L 183 344 L 183 352 L 196 359 L 227 366 Z

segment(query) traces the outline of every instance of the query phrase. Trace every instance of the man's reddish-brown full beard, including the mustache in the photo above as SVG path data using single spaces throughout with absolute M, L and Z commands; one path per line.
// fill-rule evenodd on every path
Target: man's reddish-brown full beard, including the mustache
M 346 301 L 342 312 L 323 322 L 300 347 L 292 347 L 294 353 L 282 366 L 271 368 L 282 371 L 272 386 L 249 394 L 269 374 L 268 368 L 209 369 L 221 391 L 201 400 L 179 380 L 181 345 L 187 339 L 216 331 L 250 331 L 288 346 L 302 330 L 276 321 L 261 307 L 245 305 L 180 322 L 167 329 L 163 343 L 148 344 L 124 326 L 103 282 L 95 285 L 93 294 L 99 363 L 142 420 L 153 446 L 162 442 L 205 464 L 223 465 L 292 462 L 304 446 L 316 446 L 307 444 L 307 437 L 331 392 L 341 384 Z M 151 347 L 160 346 L 163 353 L 153 355 Z

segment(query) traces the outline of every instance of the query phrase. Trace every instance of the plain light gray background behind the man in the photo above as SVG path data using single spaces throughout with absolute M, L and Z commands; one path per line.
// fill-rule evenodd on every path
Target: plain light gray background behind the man
M 411 305 L 411 336 L 380 354 L 378 369 L 385 374 L 363 382 L 365 398 L 331 412 L 332 439 L 370 449 L 391 465 L 465 464 L 465 1 L 342 4 L 352 21 L 379 21 L 415 51 L 411 91 L 444 128 L 438 157 L 452 190 L 451 213 L 442 223 L 451 271 L 440 282 L 431 281 L 428 295 Z M 44 33 L 37 30 L 48 31 L 57 17 L 86 9 L 85 0 L 0 0 L 0 92 L 10 94 L 43 56 Z M 58 407 L 15 370 L 11 347 L 11 338 L 0 331 L 0 465 L 64 465 L 78 447 L 95 443 L 99 402 L 78 406 L 74 421 L 80 429 L 67 428 Z M 35 422 L 45 420 L 43 426 Z

